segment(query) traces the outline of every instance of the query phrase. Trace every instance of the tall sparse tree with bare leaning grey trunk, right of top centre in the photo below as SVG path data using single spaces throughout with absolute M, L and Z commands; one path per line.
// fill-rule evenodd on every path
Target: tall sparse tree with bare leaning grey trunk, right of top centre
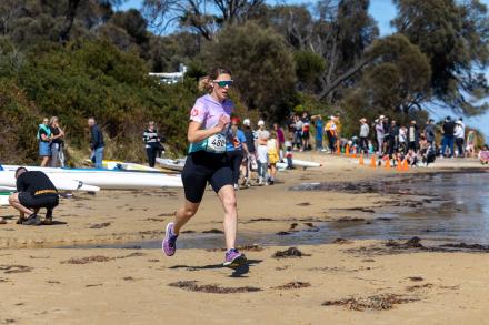
M 271 21 L 299 51 L 319 54 L 326 68 L 318 74 L 316 97 L 333 102 L 341 87 L 369 62 L 365 52 L 378 29 L 368 13 L 368 0 L 322 0 L 316 7 L 280 6 L 271 9 Z

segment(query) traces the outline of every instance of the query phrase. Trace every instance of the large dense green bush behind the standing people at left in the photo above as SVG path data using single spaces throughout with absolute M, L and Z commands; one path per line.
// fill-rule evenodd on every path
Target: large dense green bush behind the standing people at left
M 18 83 L 42 114 L 60 118 L 73 148 L 88 148 L 86 119 L 94 116 L 112 159 L 141 161 L 142 131 L 149 120 L 157 122 L 170 150 L 186 150 L 188 112 L 197 98 L 194 81 L 161 85 L 147 77 L 148 69 L 137 55 L 103 41 L 37 50 L 19 72 Z

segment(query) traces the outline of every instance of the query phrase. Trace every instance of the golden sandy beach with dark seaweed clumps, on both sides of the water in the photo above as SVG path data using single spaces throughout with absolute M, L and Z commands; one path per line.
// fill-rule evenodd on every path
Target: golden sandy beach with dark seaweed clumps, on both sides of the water
M 427 202 L 409 193 L 361 193 L 361 187 L 290 190 L 301 183 L 377 182 L 480 167 L 475 160 L 441 160 L 433 169 L 398 172 L 368 162 L 359 166 L 353 159 L 299 156 L 323 166 L 287 171 L 273 186 L 238 192 L 241 233 L 267 236 L 332 220 L 368 222 Z M 57 224 L 39 227 L 16 225 L 13 210 L 2 209 L 8 224 L 0 225 L 0 324 L 483 324 L 487 318 L 486 246 L 331 237 L 318 245 L 243 247 L 250 264 L 237 271 L 221 267 L 223 241 L 213 250 L 179 250 L 171 258 L 160 250 L 80 247 L 161 238 L 182 194 L 74 193 L 61 200 Z M 207 191 L 184 230 L 193 236 L 222 230 L 213 192 Z M 287 251 L 292 246 L 297 250 Z M 293 256 L 275 256 L 283 251 Z

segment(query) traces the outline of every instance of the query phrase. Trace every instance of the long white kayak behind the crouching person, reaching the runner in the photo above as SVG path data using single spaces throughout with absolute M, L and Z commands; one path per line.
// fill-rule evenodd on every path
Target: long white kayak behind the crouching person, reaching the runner
M 2 167 L 8 171 L 14 171 L 18 166 L 2 165 Z M 98 186 L 102 190 L 138 190 L 183 186 L 180 175 L 170 175 L 161 172 L 131 172 L 97 169 L 50 169 L 38 166 L 26 167 L 29 171 L 44 172 L 50 179 L 51 175 L 59 175 L 64 180 L 82 182 L 86 185 Z M 7 184 L 3 184 L 0 181 L 0 185 Z

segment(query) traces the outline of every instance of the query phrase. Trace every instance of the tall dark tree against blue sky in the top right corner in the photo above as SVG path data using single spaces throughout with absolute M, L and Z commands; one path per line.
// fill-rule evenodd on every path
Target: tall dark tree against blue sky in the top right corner
M 488 95 L 489 17 L 478 0 L 396 0 L 393 24 L 429 58 L 435 95 L 457 112 L 481 113 L 473 94 Z

